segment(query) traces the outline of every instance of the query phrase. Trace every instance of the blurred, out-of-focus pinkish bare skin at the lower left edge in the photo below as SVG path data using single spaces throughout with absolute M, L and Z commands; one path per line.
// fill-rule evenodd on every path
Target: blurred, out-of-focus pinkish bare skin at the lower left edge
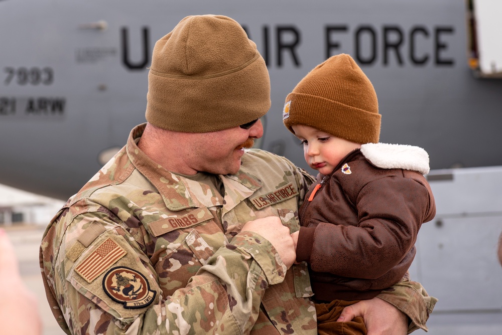
M 0 229 L 0 278 L 2 303 L 0 303 L 0 324 L 2 333 L 37 335 L 42 333 L 37 299 L 23 283 L 18 269 L 14 247 L 7 233 Z

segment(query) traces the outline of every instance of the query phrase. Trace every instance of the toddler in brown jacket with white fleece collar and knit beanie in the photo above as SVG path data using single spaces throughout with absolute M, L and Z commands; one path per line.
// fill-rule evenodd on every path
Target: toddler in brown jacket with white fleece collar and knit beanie
M 346 54 L 309 72 L 287 96 L 285 126 L 319 172 L 299 210 L 297 262 L 306 261 L 318 331 L 365 334 L 344 306 L 409 280 L 422 223 L 436 214 L 419 147 L 379 143 L 381 115 L 369 79 Z

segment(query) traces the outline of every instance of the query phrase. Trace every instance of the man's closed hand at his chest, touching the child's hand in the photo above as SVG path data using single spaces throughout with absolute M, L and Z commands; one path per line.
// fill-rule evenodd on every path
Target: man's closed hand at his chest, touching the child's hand
M 269 216 L 249 221 L 241 231 L 252 231 L 265 237 L 276 248 L 288 269 L 296 260 L 295 244 L 289 234 L 289 228 L 283 226 L 280 218 Z

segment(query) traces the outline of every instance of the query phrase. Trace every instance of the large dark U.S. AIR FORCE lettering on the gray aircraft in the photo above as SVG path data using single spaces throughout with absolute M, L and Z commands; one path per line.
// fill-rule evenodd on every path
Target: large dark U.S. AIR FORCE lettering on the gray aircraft
M 257 42 L 258 49 L 269 67 L 280 68 L 286 63 L 286 59 L 291 60 L 294 67 L 301 67 L 302 41 L 313 38 L 306 36 L 296 25 L 263 25 L 259 31 L 246 25 L 242 28 L 250 39 Z M 397 24 L 383 24 L 380 27 L 369 24 L 355 27 L 347 24 L 327 24 L 319 30 L 319 34 L 322 34 L 322 39 L 316 36 L 315 40 L 324 42 L 324 45 L 319 47 L 326 59 L 338 53 L 349 53 L 363 66 L 377 63 L 384 66 L 391 63 L 399 66 L 454 65 L 454 60 L 448 56 L 449 39 L 455 34 L 453 26 L 413 25 L 405 28 Z M 349 39 L 347 34 L 350 35 Z M 143 27 L 141 36 L 140 54 L 143 58 L 132 60 L 130 49 L 137 48 L 137 44 L 130 42 L 129 28 L 121 28 L 122 64 L 130 70 L 145 70 L 150 62 L 150 28 Z M 261 38 L 261 41 L 258 42 L 257 38 Z

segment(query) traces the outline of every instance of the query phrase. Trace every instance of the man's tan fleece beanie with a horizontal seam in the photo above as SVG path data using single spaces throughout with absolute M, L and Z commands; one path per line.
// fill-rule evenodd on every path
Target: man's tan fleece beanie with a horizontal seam
M 189 16 L 155 44 L 146 111 L 153 125 L 218 131 L 265 115 L 270 104 L 265 61 L 234 20 Z

